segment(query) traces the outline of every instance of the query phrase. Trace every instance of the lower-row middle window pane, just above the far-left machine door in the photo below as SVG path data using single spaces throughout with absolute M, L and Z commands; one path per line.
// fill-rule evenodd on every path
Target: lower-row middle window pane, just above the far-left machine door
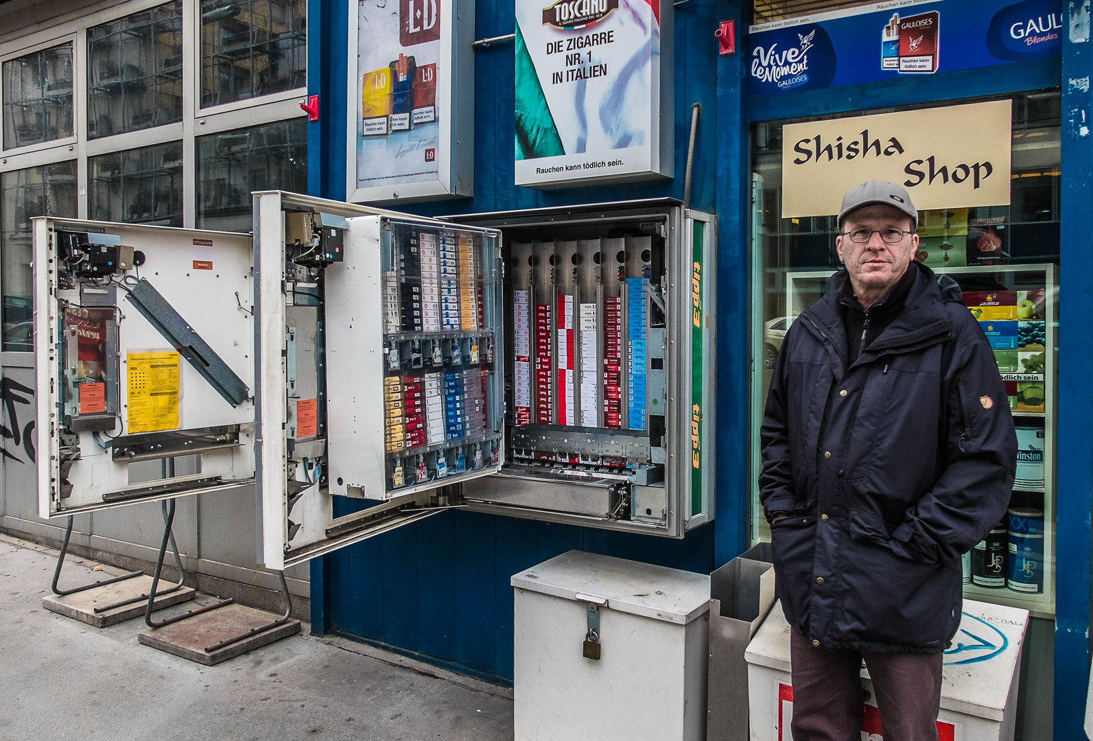
M 87 213 L 99 221 L 183 225 L 183 143 L 87 160 Z

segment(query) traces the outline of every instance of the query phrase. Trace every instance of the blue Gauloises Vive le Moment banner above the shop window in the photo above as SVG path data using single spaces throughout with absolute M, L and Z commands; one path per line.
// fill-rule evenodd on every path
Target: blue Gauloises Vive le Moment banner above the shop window
M 1058 57 L 1059 0 L 902 0 L 750 28 L 752 95 Z

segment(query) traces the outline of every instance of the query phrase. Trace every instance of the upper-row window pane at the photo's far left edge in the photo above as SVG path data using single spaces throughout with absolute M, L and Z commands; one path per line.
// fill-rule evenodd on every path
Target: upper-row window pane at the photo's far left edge
M 3 63 L 3 148 L 72 136 L 72 45 Z

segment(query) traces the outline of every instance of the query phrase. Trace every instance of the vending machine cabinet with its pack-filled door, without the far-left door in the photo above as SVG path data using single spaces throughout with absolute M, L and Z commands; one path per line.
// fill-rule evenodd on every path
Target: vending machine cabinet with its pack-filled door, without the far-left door
M 268 566 L 456 506 L 677 538 L 712 518 L 712 219 L 467 219 L 255 193 Z

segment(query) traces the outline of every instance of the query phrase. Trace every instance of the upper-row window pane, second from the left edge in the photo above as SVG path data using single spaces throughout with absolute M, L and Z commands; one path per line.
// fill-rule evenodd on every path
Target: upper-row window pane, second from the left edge
M 87 138 L 183 120 L 183 3 L 87 30 Z

